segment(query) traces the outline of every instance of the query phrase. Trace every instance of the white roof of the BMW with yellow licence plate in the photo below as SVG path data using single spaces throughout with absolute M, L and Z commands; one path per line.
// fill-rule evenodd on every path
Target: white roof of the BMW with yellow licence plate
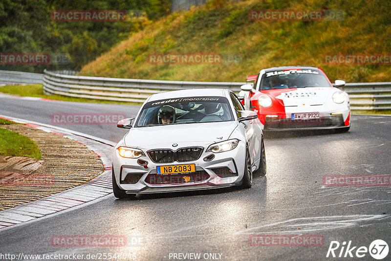
M 198 96 L 226 97 L 227 91 L 229 91 L 229 89 L 217 89 L 217 88 L 198 88 L 198 89 L 166 91 L 166 92 L 152 94 L 148 99 L 148 102 L 165 100 L 165 99 L 182 98 L 182 97 L 198 97 Z

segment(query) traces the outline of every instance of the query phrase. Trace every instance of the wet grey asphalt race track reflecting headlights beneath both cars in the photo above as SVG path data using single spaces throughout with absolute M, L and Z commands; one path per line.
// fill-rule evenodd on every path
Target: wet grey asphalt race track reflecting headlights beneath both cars
M 123 112 L 130 117 L 137 109 L 0 98 L 0 114 L 46 124 L 51 124 L 52 113 Z M 58 126 L 115 142 L 124 134 L 111 125 Z M 217 253 L 217 258 L 227 261 L 374 260 L 368 253 L 360 259 L 326 258 L 326 254 L 332 240 L 341 244 L 352 240 L 351 246 L 369 247 L 373 240 L 383 239 L 391 247 L 391 187 L 326 187 L 322 178 L 326 174 L 390 174 L 390 134 L 391 117 L 365 115 L 352 116 L 352 127 L 343 134 L 266 133 L 267 175 L 256 176 L 251 189 L 144 195 L 136 200 L 116 200 L 110 194 L 1 229 L 0 253 L 84 254 L 83 260 L 97 253 L 134 253 L 136 260 L 143 261 L 190 260 L 173 259 L 173 253 L 200 253 L 199 260 L 206 260 L 205 253 L 208 260 L 217 260 L 209 255 Z M 133 235 L 143 238 L 143 245 L 52 246 L 51 238 L 59 235 Z M 251 246 L 251 235 L 318 235 L 324 243 Z

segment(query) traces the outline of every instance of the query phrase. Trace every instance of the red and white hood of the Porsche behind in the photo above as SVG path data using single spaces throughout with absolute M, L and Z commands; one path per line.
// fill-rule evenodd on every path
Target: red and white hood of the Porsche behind
M 334 87 L 307 87 L 275 89 L 268 93 L 280 100 L 279 102 L 282 100 L 284 106 L 325 105 L 335 90 Z

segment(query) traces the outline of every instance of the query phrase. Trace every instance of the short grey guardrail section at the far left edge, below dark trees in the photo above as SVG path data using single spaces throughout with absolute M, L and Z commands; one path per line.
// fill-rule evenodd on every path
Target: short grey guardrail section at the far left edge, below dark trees
M 17 84 L 43 84 L 43 74 L 0 70 L 0 85 Z

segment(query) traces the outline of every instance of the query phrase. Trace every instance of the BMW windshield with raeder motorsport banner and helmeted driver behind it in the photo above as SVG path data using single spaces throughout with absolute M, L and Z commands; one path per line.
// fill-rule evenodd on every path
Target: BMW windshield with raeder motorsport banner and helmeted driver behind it
M 184 97 L 145 104 L 135 127 L 232 120 L 231 107 L 224 97 Z

